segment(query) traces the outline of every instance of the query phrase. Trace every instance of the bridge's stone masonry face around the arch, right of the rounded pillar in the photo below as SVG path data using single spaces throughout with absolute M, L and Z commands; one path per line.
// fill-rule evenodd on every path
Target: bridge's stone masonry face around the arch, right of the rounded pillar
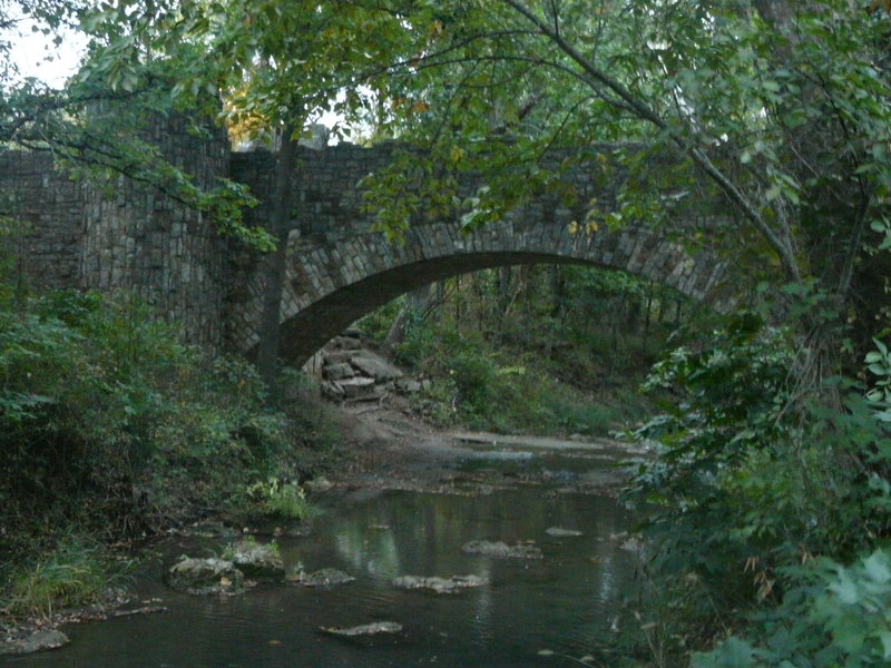
M 292 233 L 282 301 L 282 356 L 300 364 L 332 336 L 376 306 L 421 285 L 464 272 L 523 263 L 575 262 L 637 274 L 724 308 L 732 299 L 725 266 L 708 252 L 686 253 L 666 235 L 639 225 L 618 232 L 604 228 L 593 235 L 569 233 L 571 220 L 584 220 L 588 203 L 610 210 L 618 179 L 599 177 L 593 147 L 589 163 L 564 175 L 578 193 L 576 204 L 564 205 L 554 194 L 540 194 L 511 212 L 499 224 L 466 234 L 459 220 L 413 222 L 402 244 L 374 230 L 374 216 L 362 210 L 360 181 L 385 165 L 392 145 L 353 145 L 303 149 L 293 184 Z M 559 161 L 561 156 L 551 158 Z M 247 184 L 263 204 L 251 212 L 256 224 L 268 219 L 275 156 L 266 151 L 236 154 L 232 174 Z M 461 196 L 479 180 L 462 183 Z M 696 224 L 696 212 L 673 218 L 676 230 Z M 606 227 L 606 226 L 604 226 Z M 263 277 L 251 254 L 231 275 L 237 289 L 226 305 L 228 347 L 248 352 L 256 344 Z

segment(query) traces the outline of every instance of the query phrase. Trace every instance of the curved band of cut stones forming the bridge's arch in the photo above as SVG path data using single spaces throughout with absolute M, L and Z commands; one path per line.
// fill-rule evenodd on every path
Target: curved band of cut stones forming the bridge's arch
M 566 224 L 522 223 L 519 216 L 463 234 L 458 224 L 430 223 L 405 232 L 401 244 L 366 232 L 293 252 L 282 301 L 282 357 L 302 365 L 362 315 L 415 287 L 458 274 L 517 264 L 576 263 L 627 272 L 665 284 L 718 311 L 731 304 L 723 263 L 687 254 L 643 227 L 591 235 Z M 262 285 L 251 286 L 236 347 L 257 341 Z

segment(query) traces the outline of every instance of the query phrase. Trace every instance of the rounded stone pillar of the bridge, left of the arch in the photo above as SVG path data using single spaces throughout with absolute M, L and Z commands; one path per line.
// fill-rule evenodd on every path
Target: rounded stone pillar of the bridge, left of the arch
M 228 174 L 228 139 L 189 132 L 178 115 L 154 119 L 165 157 L 210 188 Z M 109 187 L 110 186 L 110 187 Z M 82 287 L 125 288 L 178 321 L 189 342 L 219 350 L 223 343 L 225 243 L 204 216 L 173 197 L 117 177 L 86 193 L 79 262 Z

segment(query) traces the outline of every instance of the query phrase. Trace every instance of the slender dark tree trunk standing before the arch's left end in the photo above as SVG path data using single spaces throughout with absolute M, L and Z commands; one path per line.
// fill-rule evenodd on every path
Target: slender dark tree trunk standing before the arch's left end
M 278 373 L 278 331 L 287 263 L 287 237 L 291 233 L 291 193 L 296 165 L 297 140 L 294 127 L 287 126 L 282 135 L 282 148 L 275 173 L 275 205 L 270 233 L 275 238 L 275 250 L 263 263 L 263 313 L 257 342 L 257 372 L 267 389 Z

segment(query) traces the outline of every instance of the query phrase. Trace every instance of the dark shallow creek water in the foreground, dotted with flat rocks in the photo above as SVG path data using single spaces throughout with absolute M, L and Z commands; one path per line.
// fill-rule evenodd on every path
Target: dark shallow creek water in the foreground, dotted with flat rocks
M 567 464 L 572 462 L 567 461 Z M 549 455 L 548 468 L 560 465 Z M 286 566 L 340 568 L 356 581 L 331 589 L 260 584 L 227 598 L 179 595 L 141 577 L 141 597 L 169 612 L 71 626 L 71 644 L 7 659 L 21 668 L 446 668 L 570 666 L 558 656 L 598 657 L 619 601 L 633 587 L 634 556 L 610 534 L 630 517 L 615 500 L 521 487 L 482 495 L 371 492 L 327 495 L 309 538 L 280 538 Z M 549 527 L 584 536 L 551 538 Z M 533 540 L 545 559 L 493 559 L 461 552 L 470 540 Z M 180 546 L 172 546 L 178 553 Z M 193 554 L 202 553 L 194 544 Z M 205 546 L 209 550 L 209 546 Z M 207 553 L 207 552 L 205 552 Z M 401 574 L 487 576 L 458 595 L 402 591 Z M 319 627 L 392 620 L 395 636 L 342 639 Z M 555 655 L 539 655 L 550 650 Z M 606 657 L 598 657 L 606 660 Z M 2 661 L 3 665 L 7 661 Z

